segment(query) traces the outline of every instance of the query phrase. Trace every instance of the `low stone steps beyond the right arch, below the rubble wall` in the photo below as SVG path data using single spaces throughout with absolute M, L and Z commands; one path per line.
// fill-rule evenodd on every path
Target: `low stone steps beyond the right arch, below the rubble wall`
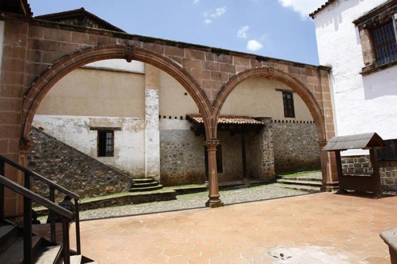
M 322 180 L 319 177 L 308 176 L 277 176 L 276 185 L 282 188 L 304 192 L 320 192 Z

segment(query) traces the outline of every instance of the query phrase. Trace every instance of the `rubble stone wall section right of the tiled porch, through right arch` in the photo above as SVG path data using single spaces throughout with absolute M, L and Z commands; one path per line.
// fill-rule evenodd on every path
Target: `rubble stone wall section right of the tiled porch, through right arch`
M 320 169 L 320 149 L 315 124 L 271 124 L 276 173 Z

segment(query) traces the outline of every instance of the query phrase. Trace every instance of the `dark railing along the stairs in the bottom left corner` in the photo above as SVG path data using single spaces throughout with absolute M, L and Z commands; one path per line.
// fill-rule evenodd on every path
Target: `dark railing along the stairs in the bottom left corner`
M 5 176 L 5 164 L 8 164 L 19 171 L 24 173 L 24 187 L 6 179 Z M 31 177 L 36 180 L 45 183 L 50 188 L 50 199 L 43 198 L 32 191 L 30 191 Z M 76 227 L 76 252 L 78 255 L 81 254 L 80 248 L 80 220 L 79 220 L 79 208 L 78 202 L 80 197 L 64 187 L 48 180 L 47 178 L 21 166 L 20 164 L 0 155 L 0 219 L 4 219 L 4 187 L 20 194 L 23 196 L 23 252 L 24 252 L 24 263 L 32 263 L 32 200 L 46 208 L 50 212 L 50 229 L 51 229 L 51 241 L 53 243 L 57 242 L 56 237 L 56 214 L 63 217 L 62 223 L 62 234 L 63 234 L 63 255 L 65 264 L 69 264 L 69 229 L 68 222 L 72 219 L 73 213 L 66 210 L 65 208 L 59 206 L 55 203 L 55 190 L 65 194 L 74 199 L 74 217 L 75 217 L 75 227 Z

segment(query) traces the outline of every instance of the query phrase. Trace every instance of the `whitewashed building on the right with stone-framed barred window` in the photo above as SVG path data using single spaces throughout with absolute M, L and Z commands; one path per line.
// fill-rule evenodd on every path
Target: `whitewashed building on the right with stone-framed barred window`
M 397 190 L 397 1 L 329 0 L 311 14 L 320 64 L 331 70 L 337 135 L 377 132 L 385 190 Z M 342 153 L 348 172 L 369 173 L 365 150 Z

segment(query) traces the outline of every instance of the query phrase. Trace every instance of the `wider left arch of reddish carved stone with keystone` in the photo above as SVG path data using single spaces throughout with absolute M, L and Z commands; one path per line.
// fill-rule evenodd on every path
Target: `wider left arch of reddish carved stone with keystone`
M 155 52 L 132 45 L 106 45 L 90 47 L 68 54 L 49 66 L 32 84 L 23 101 L 22 138 L 29 138 L 36 110 L 47 92 L 70 71 L 95 61 L 126 59 L 153 65 L 173 76 L 189 92 L 204 120 L 206 137 L 210 138 L 211 104 L 195 79 L 180 65 Z

